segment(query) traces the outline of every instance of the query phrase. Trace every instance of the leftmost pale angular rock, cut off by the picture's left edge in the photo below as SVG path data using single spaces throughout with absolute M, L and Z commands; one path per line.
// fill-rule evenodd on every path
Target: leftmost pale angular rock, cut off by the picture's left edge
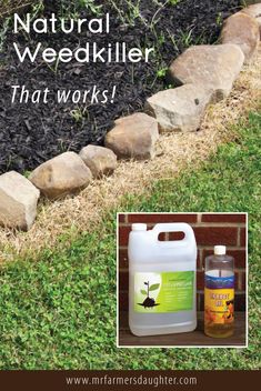
M 16 171 L 0 176 L 0 224 L 28 231 L 37 215 L 39 190 Z

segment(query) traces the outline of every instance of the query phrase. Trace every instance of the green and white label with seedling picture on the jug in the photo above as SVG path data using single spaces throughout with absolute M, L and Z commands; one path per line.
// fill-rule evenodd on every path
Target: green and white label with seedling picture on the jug
M 134 274 L 134 311 L 162 313 L 193 308 L 194 272 Z

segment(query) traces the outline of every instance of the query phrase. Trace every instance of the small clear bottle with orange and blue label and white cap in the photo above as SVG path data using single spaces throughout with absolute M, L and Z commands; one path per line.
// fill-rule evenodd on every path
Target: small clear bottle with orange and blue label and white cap
M 231 337 L 234 331 L 234 259 L 225 245 L 215 245 L 205 258 L 204 333 L 213 338 Z

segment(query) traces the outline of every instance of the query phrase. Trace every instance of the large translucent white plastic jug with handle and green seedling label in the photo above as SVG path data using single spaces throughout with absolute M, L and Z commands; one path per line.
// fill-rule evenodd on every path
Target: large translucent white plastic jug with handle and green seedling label
M 160 241 L 161 232 L 183 232 Z M 129 235 L 129 325 L 135 335 L 193 331 L 197 243 L 187 223 L 132 224 Z

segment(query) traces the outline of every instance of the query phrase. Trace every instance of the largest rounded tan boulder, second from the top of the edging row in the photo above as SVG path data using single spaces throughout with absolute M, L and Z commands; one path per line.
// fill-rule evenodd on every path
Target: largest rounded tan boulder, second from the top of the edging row
M 172 62 L 169 78 L 177 86 L 192 83 L 212 90 L 215 102 L 229 96 L 243 61 L 237 44 L 191 47 Z

